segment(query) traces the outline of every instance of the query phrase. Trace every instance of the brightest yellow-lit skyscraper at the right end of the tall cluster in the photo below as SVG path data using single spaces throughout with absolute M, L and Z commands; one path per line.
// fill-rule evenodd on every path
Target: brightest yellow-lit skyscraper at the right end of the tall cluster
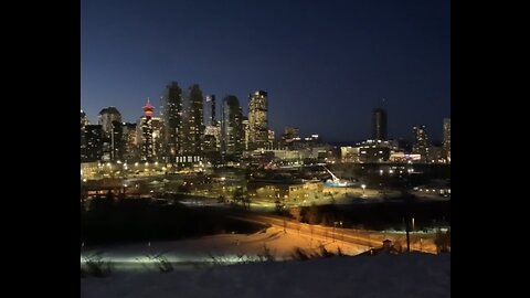
M 248 149 L 268 147 L 268 99 L 264 91 L 248 95 Z

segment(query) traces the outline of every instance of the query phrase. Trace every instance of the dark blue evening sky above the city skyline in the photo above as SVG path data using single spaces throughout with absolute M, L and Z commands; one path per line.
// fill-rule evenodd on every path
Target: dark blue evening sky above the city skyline
M 91 121 L 116 106 L 136 121 L 170 81 L 204 94 L 264 89 L 280 134 L 329 141 L 370 137 L 371 110 L 389 137 L 426 125 L 441 139 L 451 117 L 448 0 L 82 0 L 81 100 Z M 220 99 L 218 99 L 220 102 Z M 158 114 L 158 109 L 156 113 Z

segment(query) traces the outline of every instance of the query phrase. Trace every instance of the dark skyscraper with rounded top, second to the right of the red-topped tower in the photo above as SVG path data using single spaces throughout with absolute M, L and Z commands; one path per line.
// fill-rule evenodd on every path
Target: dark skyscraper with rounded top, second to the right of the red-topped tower
M 200 156 L 202 153 L 202 136 L 204 135 L 203 105 L 204 97 L 199 85 L 194 84 L 188 89 L 184 121 L 183 152 L 187 156 Z

